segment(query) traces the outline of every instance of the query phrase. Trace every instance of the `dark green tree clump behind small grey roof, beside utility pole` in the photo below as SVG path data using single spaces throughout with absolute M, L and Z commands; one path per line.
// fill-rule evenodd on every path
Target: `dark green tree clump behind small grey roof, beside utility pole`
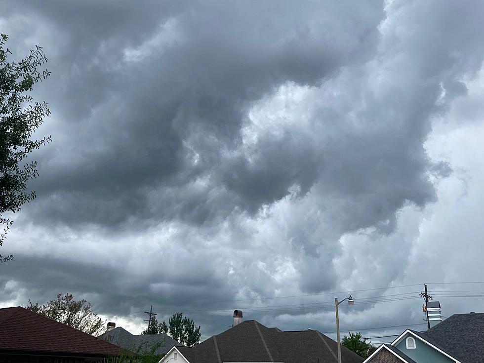
M 168 320 L 160 324 L 156 318 L 152 318 L 149 327 L 142 334 L 165 333 L 187 347 L 193 347 L 200 342 L 200 325 L 196 326 L 194 321 L 188 317 L 183 317 L 183 313 L 176 313 Z

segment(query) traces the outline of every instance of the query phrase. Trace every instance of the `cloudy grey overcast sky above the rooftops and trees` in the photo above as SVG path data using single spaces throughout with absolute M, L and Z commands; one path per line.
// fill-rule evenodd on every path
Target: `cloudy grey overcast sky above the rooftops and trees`
M 423 323 L 423 282 L 483 295 L 438 284 L 484 281 L 483 14 L 455 0 L 2 1 L 12 57 L 38 44 L 49 58 L 34 94 L 53 142 L 1 247 L 15 260 L 0 306 L 71 292 L 132 333 L 153 305 L 208 337 L 236 308 L 333 331 L 335 292 L 353 291 L 342 330 L 378 336 Z M 446 317 L 484 311 L 483 296 L 435 299 Z

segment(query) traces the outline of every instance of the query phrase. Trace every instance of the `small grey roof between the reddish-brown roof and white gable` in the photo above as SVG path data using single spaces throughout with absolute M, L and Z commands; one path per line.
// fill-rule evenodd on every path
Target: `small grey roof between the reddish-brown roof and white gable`
M 121 326 L 105 332 L 99 338 L 136 353 L 149 353 L 154 346 L 158 346 L 155 354 L 159 355 L 164 355 L 171 347 L 180 344 L 166 334 L 134 335 Z

